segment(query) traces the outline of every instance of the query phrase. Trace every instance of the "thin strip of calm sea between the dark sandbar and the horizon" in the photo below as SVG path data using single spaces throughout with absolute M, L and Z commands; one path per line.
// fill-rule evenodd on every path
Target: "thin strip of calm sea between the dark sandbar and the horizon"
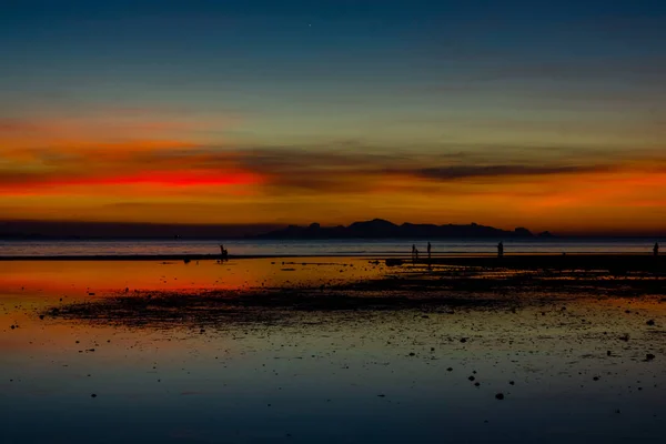
M 494 253 L 500 240 L 434 240 L 433 254 Z M 664 239 L 507 240 L 511 253 L 652 253 Z M 0 256 L 215 254 L 214 240 L 168 241 L 0 241 Z M 412 244 L 425 252 L 426 240 L 223 241 L 232 255 L 374 255 L 410 254 Z

